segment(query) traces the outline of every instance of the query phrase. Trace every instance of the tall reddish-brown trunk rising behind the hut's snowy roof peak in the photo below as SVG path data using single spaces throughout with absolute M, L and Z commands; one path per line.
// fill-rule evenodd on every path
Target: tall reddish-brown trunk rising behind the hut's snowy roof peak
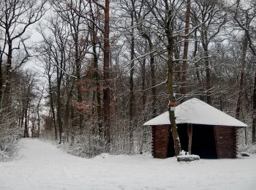
M 191 0 L 187 0 L 185 35 L 189 34 L 190 4 L 191 4 Z M 189 39 L 189 37 L 185 37 L 183 62 L 182 62 L 181 94 L 184 95 L 184 99 L 182 99 L 182 101 L 185 101 L 187 99 L 186 98 L 186 94 L 187 94 L 187 54 L 188 54 L 188 50 L 189 50 L 188 39 Z

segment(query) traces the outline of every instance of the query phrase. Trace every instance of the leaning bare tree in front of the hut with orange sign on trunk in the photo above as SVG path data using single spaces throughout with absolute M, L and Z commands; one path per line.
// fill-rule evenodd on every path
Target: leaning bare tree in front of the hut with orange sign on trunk
M 181 144 L 178 137 L 178 130 L 176 126 L 176 117 L 174 109 L 172 107 L 176 106 L 176 97 L 174 96 L 173 91 L 173 69 L 174 69 L 174 58 L 173 53 L 176 43 L 176 28 L 175 22 L 176 17 L 178 16 L 178 11 L 183 5 L 183 1 L 147 1 L 148 8 L 151 9 L 154 19 L 162 27 L 162 30 L 165 32 L 163 37 L 166 38 L 166 48 L 167 48 L 167 94 L 169 97 L 168 112 L 171 125 L 171 133 L 173 135 L 173 144 L 175 149 L 175 154 L 178 154 L 181 151 Z

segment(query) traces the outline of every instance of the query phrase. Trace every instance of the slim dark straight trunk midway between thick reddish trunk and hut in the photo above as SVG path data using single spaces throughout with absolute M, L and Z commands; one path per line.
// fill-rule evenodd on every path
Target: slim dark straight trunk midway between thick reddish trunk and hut
M 133 126 L 134 126 L 134 82 L 133 82 L 133 74 L 134 74 L 134 66 L 135 66 L 135 37 L 134 37 L 134 15 L 131 13 L 131 27 L 132 27 L 132 39 L 131 39 L 131 66 L 129 69 L 129 152 L 132 153 L 133 150 Z

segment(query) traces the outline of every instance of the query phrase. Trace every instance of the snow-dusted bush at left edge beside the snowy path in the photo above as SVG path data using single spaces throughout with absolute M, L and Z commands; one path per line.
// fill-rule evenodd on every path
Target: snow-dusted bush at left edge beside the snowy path
M 18 140 L 21 136 L 17 128 L 0 129 L 0 161 L 8 161 L 18 153 Z

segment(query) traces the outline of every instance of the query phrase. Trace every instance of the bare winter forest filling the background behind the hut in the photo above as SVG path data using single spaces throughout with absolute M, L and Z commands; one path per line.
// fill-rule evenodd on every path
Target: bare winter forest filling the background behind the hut
M 193 97 L 246 123 L 239 144 L 255 143 L 255 0 L 0 7 L 0 160 L 15 154 L 20 137 L 82 157 L 150 152 L 143 123 Z

